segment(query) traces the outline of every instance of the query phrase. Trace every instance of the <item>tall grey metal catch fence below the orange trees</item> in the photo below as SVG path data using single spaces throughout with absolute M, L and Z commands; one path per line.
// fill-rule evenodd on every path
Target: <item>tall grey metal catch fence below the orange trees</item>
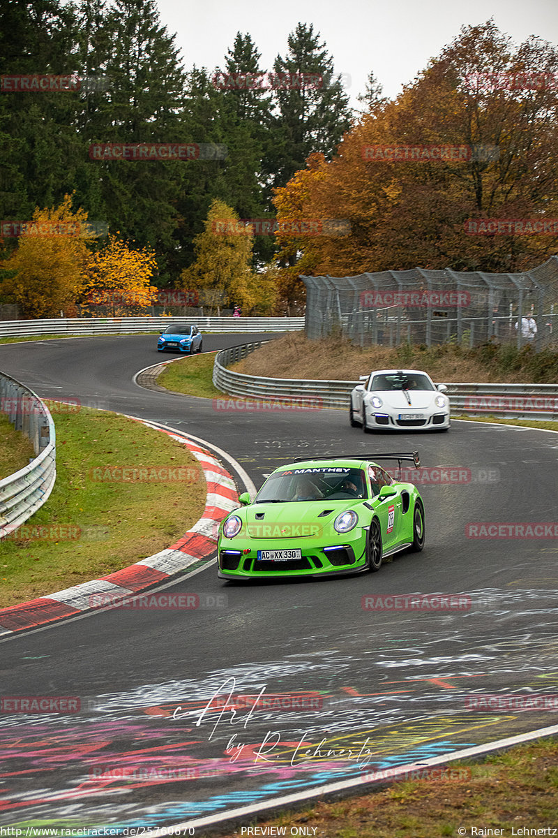
M 558 346 L 558 256 L 523 273 L 381 271 L 300 277 L 305 332 L 343 334 L 361 346 L 476 346 L 490 340 Z

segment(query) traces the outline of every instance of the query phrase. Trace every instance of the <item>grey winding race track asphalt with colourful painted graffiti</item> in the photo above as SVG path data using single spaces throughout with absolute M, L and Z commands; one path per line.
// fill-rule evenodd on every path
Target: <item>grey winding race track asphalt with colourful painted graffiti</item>
M 204 349 L 259 337 L 273 336 L 206 335 Z M 475 522 L 558 519 L 555 434 L 453 422 L 376 437 L 345 411 L 222 410 L 134 384 L 161 360 L 154 347 L 152 335 L 5 344 L 0 370 L 39 396 L 207 440 L 256 487 L 294 456 L 387 448 L 460 467 L 456 482 L 446 471 L 419 484 L 427 546 L 379 573 L 233 586 L 212 564 L 166 592 L 206 593 L 214 608 L 117 608 L 5 640 L 4 696 L 83 703 L 3 713 L 1 824 L 171 825 L 555 724 L 556 540 L 466 535 Z M 385 598 L 418 594 L 462 607 Z M 363 608 L 363 596 L 382 603 Z M 202 712 L 214 694 L 228 707 Z M 539 700 L 520 710 L 512 694 Z

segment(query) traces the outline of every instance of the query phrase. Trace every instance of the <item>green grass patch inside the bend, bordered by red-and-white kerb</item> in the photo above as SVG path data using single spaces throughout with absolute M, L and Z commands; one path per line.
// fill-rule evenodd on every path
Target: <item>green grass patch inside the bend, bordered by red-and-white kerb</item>
M 54 409 L 54 424 L 56 483 L 44 506 L 2 542 L 0 607 L 151 556 L 183 535 L 205 506 L 202 469 L 165 433 L 89 408 Z M 125 481 L 123 467 L 130 469 Z M 175 471 L 164 481 L 166 468 Z

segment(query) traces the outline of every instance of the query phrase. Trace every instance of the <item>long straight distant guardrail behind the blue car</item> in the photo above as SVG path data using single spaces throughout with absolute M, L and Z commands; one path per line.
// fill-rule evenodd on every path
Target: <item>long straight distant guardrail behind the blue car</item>
M 161 332 L 172 323 L 195 325 L 202 332 L 296 332 L 304 317 L 94 317 L 0 321 L 0 338 L 41 334 L 134 334 Z

